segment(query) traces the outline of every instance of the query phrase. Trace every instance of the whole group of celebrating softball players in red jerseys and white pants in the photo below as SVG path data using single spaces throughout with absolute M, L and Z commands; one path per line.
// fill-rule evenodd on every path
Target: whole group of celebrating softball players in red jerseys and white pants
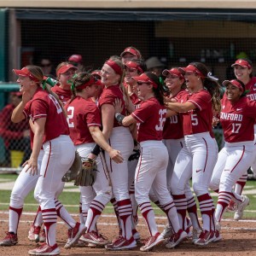
M 165 69 L 159 76 L 147 71 L 134 47 L 92 72 L 61 62 L 53 87 L 40 67 L 14 69 L 22 102 L 11 119 L 29 122 L 32 154 L 12 190 L 9 231 L 0 245 L 18 243 L 24 199 L 33 189 L 39 207 L 28 238 L 44 243 L 30 255 L 60 254 L 57 217 L 67 225 L 67 249 L 137 247 L 138 209 L 149 232 L 140 247 L 143 252 L 160 243 L 174 248 L 190 238 L 198 246 L 220 241 L 224 211 L 242 218 L 249 204 L 242 195 L 247 169 L 256 172 L 256 78 L 249 60 L 239 59 L 232 67 L 236 79 L 223 82 L 223 95 L 218 79 L 203 63 Z M 220 152 L 212 132 L 219 122 L 225 142 Z M 77 183 L 79 222 L 58 200 L 76 154 L 84 167 L 96 163 L 92 182 L 81 185 L 84 168 Z M 218 193 L 216 206 L 211 190 Z M 113 241 L 96 225 L 109 202 L 119 225 Z M 166 214 L 161 233 L 151 202 Z

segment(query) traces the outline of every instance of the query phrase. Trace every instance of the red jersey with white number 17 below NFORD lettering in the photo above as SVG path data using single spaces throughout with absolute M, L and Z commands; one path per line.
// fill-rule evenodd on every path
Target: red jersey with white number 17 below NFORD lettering
M 225 142 L 239 143 L 253 141 L 256 102 L 250 102 L 244 96 L 232 105 L 224 94 L 221 103 L 220 123 L 224 130 Z

